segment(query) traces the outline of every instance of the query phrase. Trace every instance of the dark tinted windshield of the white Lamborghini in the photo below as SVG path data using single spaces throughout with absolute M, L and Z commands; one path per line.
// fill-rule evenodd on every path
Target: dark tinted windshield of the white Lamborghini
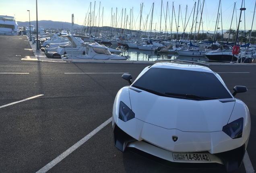
M 201 99 L 232 98 L 219 79 L 209 72 L 150 68 L 132 86 L 138 89 L 147 89 L 145 91 L 151 90 L 156 93 L 163 93 L 163 96 L 185 95 L 184 98 L 186 99 L 196 97 L 201 97 Z

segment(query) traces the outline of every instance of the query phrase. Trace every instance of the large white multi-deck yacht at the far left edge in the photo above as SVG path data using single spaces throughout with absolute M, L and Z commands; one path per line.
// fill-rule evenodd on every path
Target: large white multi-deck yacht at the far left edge
M 17 35 L 19 34 L 18 23 L 12 16 L 0 16 L 0 34 Z

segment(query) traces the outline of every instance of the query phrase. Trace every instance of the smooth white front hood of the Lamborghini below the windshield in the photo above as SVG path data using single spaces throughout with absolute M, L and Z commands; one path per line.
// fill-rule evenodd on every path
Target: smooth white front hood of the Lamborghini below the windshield
M 213 132 L 227 125 L 235 100 L 194 101 L 130 89 L 130 103 L 135 118 L 145 123 L 186 132 Z

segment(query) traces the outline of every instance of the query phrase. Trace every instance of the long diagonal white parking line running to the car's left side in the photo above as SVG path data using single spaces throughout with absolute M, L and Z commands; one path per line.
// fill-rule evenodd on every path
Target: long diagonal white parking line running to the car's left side
M 56 159 L 54 159 L 53 161 L 51 161 L 50 163 L 48 163 L 47 165 L 45 165 L 43 168 L 41 168 L 39 171 L 37 171 L 36 173 L 46 173 L 47 171 L 49 171 L 52 167 L 54 167 L 57 163 L 59 163 L 60 161 L 62 161 L 65 157 L 67 157 L 70 153 L 72 153 L 73 151 L 75 151 L 78 147 L 80 147 L 81 145 L 83 145 L 83 143 L 85 143 L 86 141 L 88 141 L 91 137 L 93 137 L 93 135 L 95 135 L 97 132 L 99 132 L 101 129 L 103 129 L 103 127 L 105 127 L 106 125 L 108 125 L 110 122 L 112 121 L 112 117 L 109 118 L 107 121 L 105 121 L 104 123 L 102 123 L 99 127 L 97 127 L 96 129 L 94 129 L 91 133 L 89 133 L 88 135 L 86 135 L 83 139 L 81 139 L 80 141 L 78 141 L 77 143 L 75 143 L 72 147 L 70 147 L 69 149 L 67 149 L 66 151 L 64 151 L 64 153 L 62 153 L 61 155 L 59 155 L 58 157 L 56 157 Z

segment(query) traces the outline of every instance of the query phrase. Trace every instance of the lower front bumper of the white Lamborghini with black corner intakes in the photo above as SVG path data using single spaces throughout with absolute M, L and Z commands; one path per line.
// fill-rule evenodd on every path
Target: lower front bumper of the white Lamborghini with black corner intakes
M 208 151 L 193 152 L 197 155 L 209 156 L 209 161 L 206 160 L 175 160 L 173 155 L 189 154 L 184 152 L 167 151 L 161 147 L 157 147 L 145 140 L 138 141 L 122 131 L 116 124 L 114 124 L 113 137 L 115 146 L 122 152 L 133 152 L 147 159 L 156 161 L 158 163 L 178 168 L 188 169 L 209 169 L 219 168 L 225 171 L 233 171 L 238 169 L 242 164 L 246 144 L 236 149 L 225 151 L 222 153 L 211 154 Z

